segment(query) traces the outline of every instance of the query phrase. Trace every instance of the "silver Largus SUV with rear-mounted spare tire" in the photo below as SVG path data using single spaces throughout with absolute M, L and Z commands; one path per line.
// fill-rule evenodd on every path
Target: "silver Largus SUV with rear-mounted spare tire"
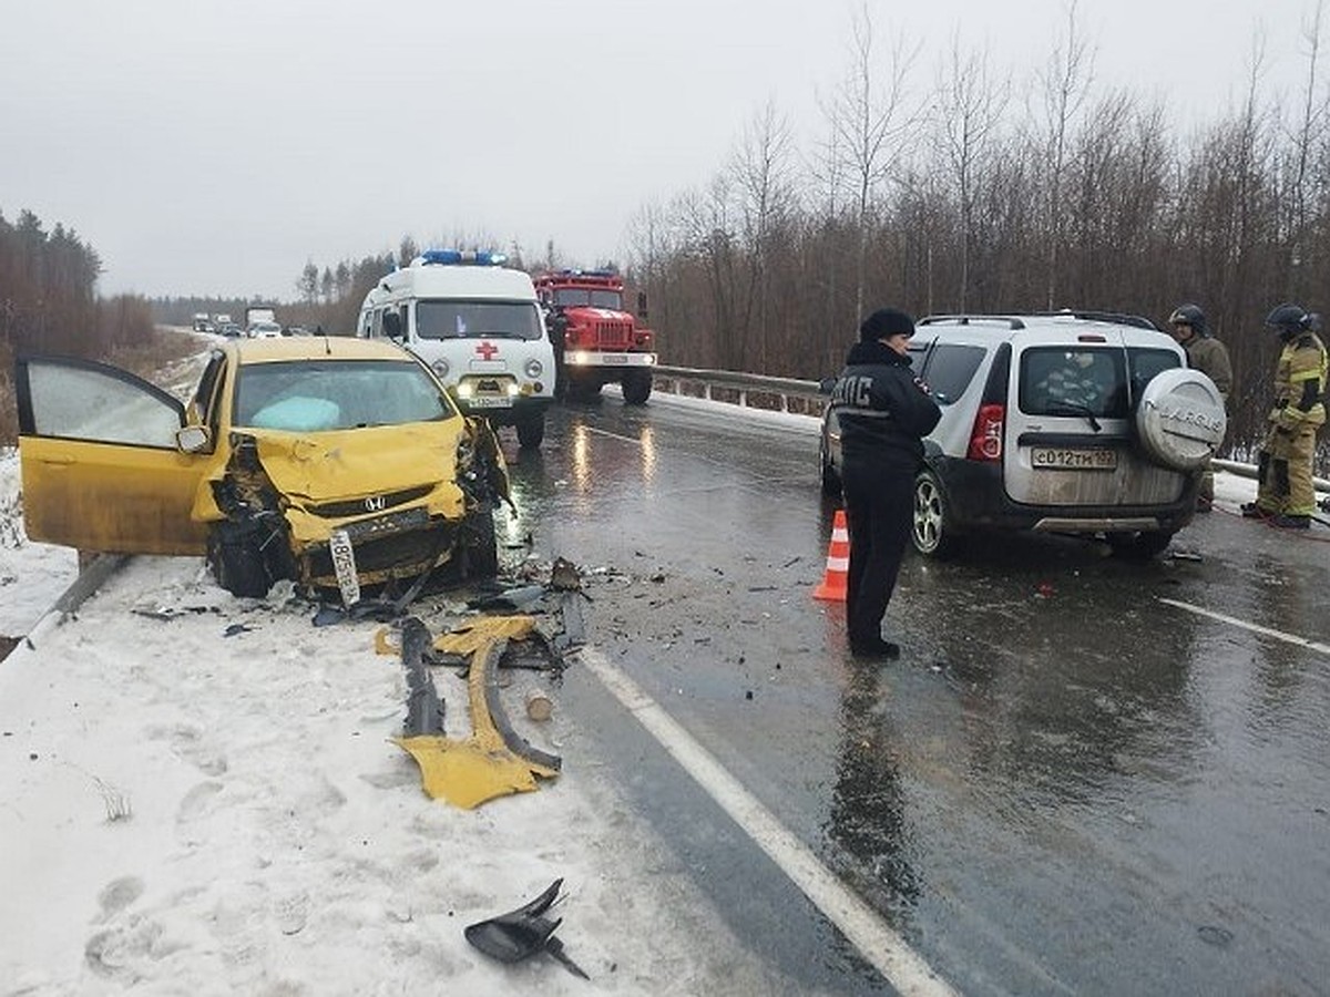
M 1036 530 L 1103 536 L 1152 557 L 1190 522 L 1200 471 L 1224 439 L 1224 401 L 1148 319 L 930 316 L 910 352 L 942 405 L 915 479 L 920 553 L 946 554 L 990 530 Z M 830 407 L 821 464 L 823 491 L 839 493 Z

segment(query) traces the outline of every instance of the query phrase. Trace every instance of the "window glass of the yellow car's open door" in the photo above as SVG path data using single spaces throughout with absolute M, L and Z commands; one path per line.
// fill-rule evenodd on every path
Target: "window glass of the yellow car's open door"
M 28 364 L 36 436 L 176 448 L 182 405 L 112 368 Z

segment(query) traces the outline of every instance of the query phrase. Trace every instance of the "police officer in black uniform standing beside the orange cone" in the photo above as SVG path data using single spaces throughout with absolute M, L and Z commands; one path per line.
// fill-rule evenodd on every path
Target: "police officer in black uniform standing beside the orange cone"
M 831 393 L 850 533 L 846 630 L 850 651 L 863 658 L 900 655 L 898 645 L 882 638 L 882 617 L 910 538 L 922 439 L 942 417 L 910 368 L 912 335 L 914 319 L 903 311 L 872 312 L 859 327 L 859 342 Z

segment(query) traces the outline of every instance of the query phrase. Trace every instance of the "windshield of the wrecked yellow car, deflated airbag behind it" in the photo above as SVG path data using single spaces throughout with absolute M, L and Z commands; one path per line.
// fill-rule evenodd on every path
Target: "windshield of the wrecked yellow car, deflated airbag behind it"
M 432 423 L 456 409 L 410 360 L 293 360 L 239 367 L 235 425 L 289 432 Z

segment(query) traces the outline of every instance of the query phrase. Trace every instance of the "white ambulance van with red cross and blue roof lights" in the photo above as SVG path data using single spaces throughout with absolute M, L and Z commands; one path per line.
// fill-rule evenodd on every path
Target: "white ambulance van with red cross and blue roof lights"
M 555 351 L 531 277 L 504 262 L 497 253 L 428 250 L 370 290 L 356 335 L 403 343 L 463 412 L 516 427 L 523 447 L 539 447 Z

